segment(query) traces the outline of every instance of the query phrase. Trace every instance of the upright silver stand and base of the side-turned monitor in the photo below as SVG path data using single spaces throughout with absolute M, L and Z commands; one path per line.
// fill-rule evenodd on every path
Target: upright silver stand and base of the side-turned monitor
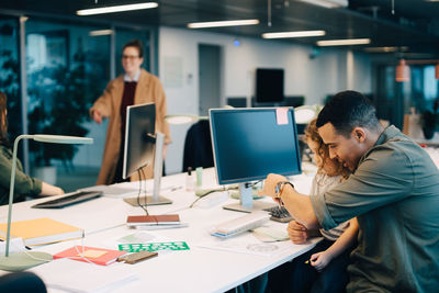
M 168 200 L 159 195 L 160 193 L 160 183 L 161 183 L 161 173 L 164 171 L 164 144 L 165 144 L 165 135 L 162 133 L 156 133 L 156 149 L 154 156 L 154 190 L 153 195 L 140 196 L 137 202 L 136 198 L 127 198 L 124 199 L 126 203 L 130 203 L 133 206 L 140 205 L 159 205 L 159 204 L 171 204 L 172 201 Z

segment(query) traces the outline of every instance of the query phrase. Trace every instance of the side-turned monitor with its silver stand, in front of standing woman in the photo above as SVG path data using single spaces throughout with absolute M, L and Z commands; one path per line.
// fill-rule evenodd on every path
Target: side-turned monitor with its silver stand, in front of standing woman
M 164 135 L 156 131 L 156 105 L 154 103 L 130 105 L 126 109 L 125 145 L 122 177 L 128 178 L 142 168 L 154 164 L 154 191 L 151 196 L 124 199 L 132 205 L 172 203 L 159 196 Z M 142 174 L 142 172 L 139 173 Z M 142 177 L 139 176 L 139 179 Z M 145 191 L 146 193 L 146 191 Z

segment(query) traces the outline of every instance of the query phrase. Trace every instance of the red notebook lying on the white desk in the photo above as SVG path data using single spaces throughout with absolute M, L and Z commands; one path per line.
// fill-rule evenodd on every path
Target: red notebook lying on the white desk
M 108 266 L 125 253 L 126 253 L 125 251 L 106 249 L 106 248 L 74 246 L 67 250 L 63 250 L 54 255 L 54 259 L 70 258 L 74 260 Z

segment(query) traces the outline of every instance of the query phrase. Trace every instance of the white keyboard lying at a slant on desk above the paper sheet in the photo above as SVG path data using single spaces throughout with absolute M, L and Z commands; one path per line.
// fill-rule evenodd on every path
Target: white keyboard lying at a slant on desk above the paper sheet
M 252 212 L 216 225 L 211 235 L 219 238 L 228 238 L 261 226 L 269 217 L 270 215 L 263 211 Z

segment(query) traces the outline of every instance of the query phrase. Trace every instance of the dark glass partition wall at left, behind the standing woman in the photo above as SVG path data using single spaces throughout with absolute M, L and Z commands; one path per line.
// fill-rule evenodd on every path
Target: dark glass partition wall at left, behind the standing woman
M 30 142 L 23 151 L 29 157 L 21 156 L 27 173 L 66 192 L 95 183 L 106 121 L 97 125 L 88 109 L 110 79 L 123 74 L 122 47 L 130 40 L 143 41 L 144 68 L 154 68 L 150 56 L 157 43 L 151 35 L 156 33 L 151 27 L 0 14 L 0 90 L 9 97 L 11 139 L 26 132 L 94 138 L 93 145 L 82 146 Z

